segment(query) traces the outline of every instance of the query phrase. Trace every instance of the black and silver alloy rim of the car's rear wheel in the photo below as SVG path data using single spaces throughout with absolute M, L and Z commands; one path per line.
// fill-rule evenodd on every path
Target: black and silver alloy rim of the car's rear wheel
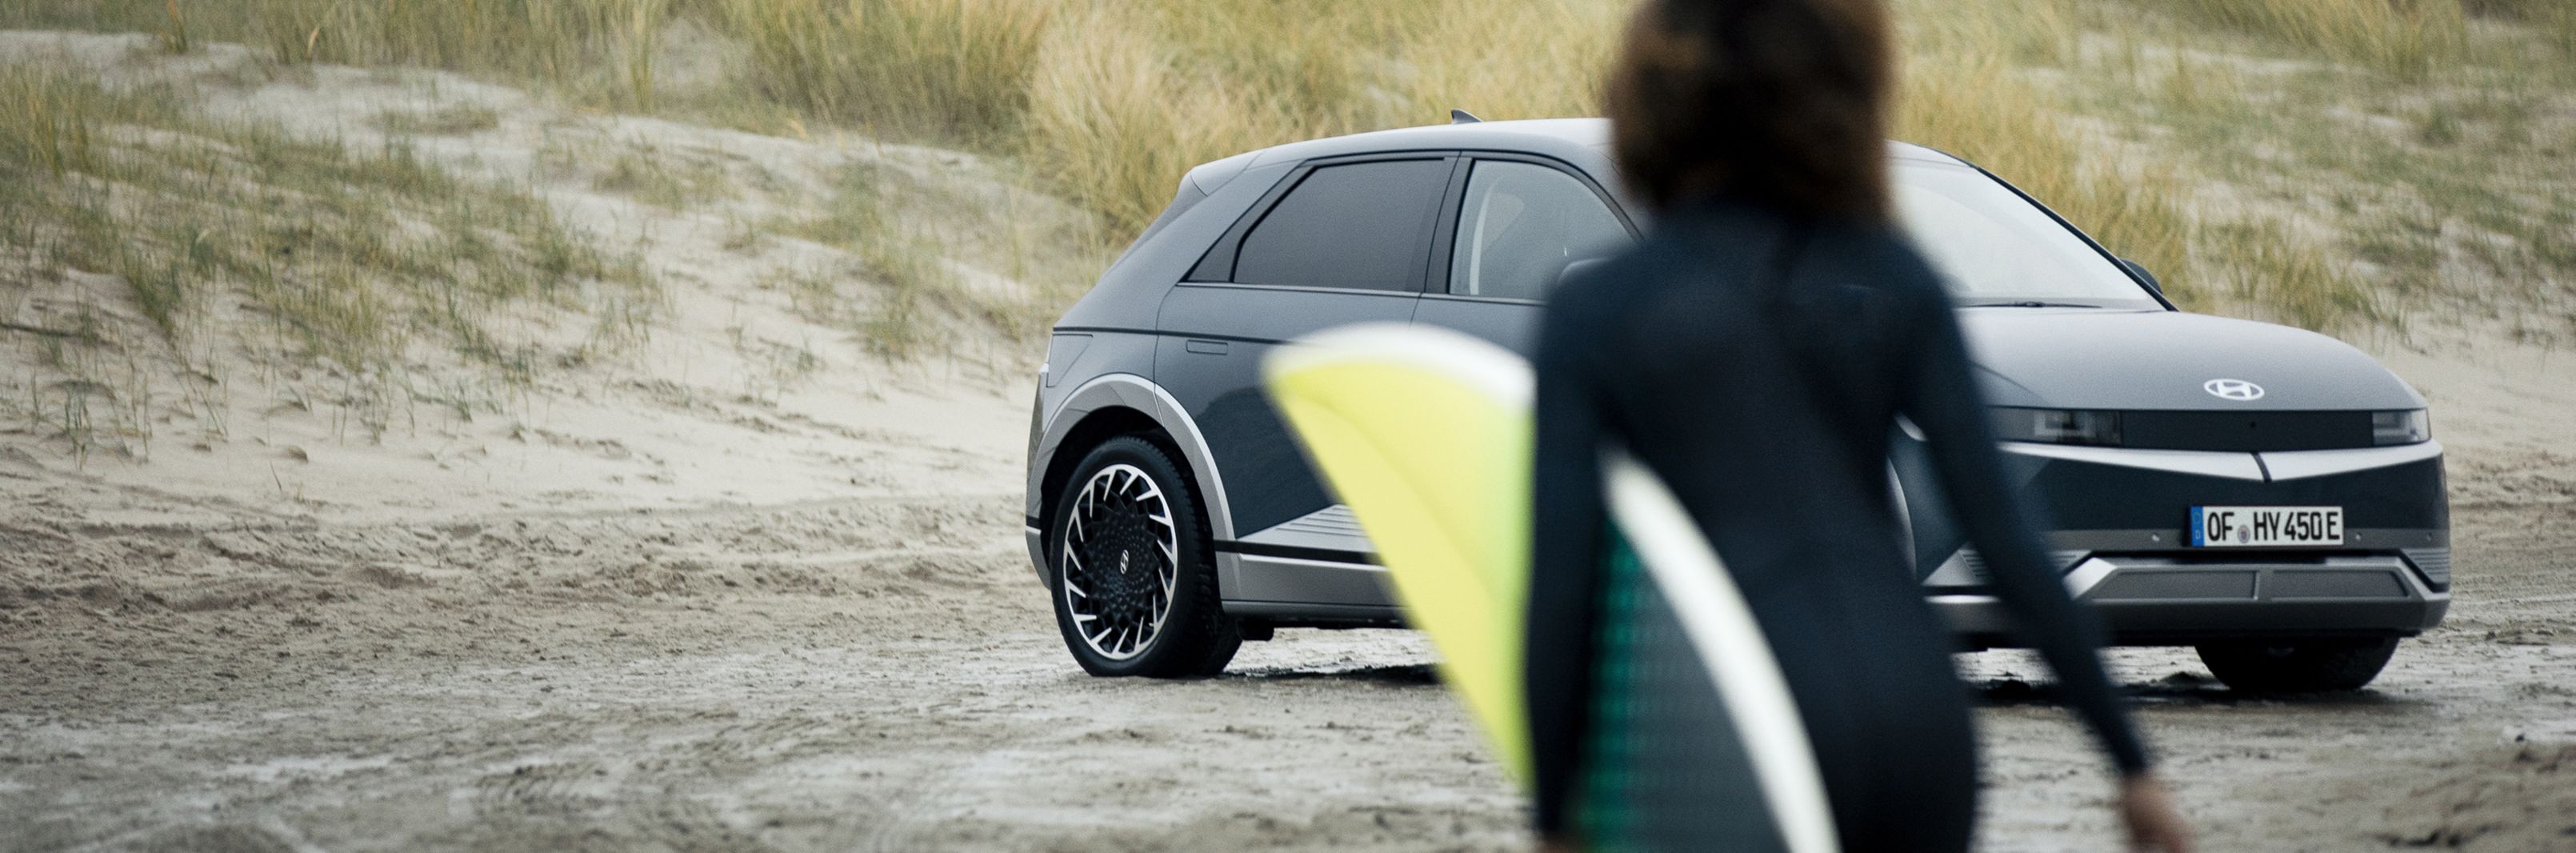
M 1162 484 L 1133 464 L 1082 482 L 1064 523 L 1064 611 L 1082 644 L 1108 660 L 1144 655 L 1172 616 L 1180 526 Z

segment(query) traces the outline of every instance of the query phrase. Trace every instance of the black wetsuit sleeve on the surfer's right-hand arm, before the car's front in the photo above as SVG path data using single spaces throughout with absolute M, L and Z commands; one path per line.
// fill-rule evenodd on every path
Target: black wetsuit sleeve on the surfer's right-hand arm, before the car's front
M 1994 448 L 1984 394 L 1968 374 L 1958 317 L 1940 283 L 1929 278 L 1932 271 L 1922 273 L 1932 283 L 1906 312 L 1914 345 L 1899 366 L 1901 374 L 1911 374 L 1899 384 L 1901 410 L 1922 428 L 1942 495 L 1986 559 L 1989 588 L 2004 600 L 2022 642 L 2048 660 L 2061 698 L 2102 737 L 2120 773 L 2143 771 L 2146 747 L 2138 745 L 2128 709 L 2102 673 L 2099 626 L 2089 611 L 2066 598 L 2058 572 L 2040 557 L 2032 513 L 2004 479 L 2004 459 Z

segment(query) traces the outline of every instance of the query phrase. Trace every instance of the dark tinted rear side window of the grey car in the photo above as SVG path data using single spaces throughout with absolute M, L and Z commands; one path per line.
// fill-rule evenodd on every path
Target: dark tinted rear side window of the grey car
M 1448 173 L 1448 160 L 1350 162 L 1309 173 L 1244 235 L 1234 281 L 1412 289 L 1430 255 L 1432 209 Z

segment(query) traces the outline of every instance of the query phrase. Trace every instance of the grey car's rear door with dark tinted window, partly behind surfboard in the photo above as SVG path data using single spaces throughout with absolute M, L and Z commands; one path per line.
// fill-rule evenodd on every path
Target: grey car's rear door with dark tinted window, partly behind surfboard
M 1450 152 L 1316 160 L 1280 180 L 1172 286 L 1154 381 L 1198 423 L 1221 477 L 1208 500 L 1229 603 L 1383 606 L 1368 541 L 1260 387 L 1283 340 L 1406 322 L 1430 276 Z

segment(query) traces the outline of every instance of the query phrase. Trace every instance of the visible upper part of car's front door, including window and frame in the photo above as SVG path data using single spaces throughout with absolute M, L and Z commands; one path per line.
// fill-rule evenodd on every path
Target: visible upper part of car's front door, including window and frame
M 1636 242 L 1610 193 L 1556 160 L 1476 155 L 1453 180 L 1458 204 L 1440 211 L 1414 322 L 1533 356 L 1540 307 L 1566 273 Z

